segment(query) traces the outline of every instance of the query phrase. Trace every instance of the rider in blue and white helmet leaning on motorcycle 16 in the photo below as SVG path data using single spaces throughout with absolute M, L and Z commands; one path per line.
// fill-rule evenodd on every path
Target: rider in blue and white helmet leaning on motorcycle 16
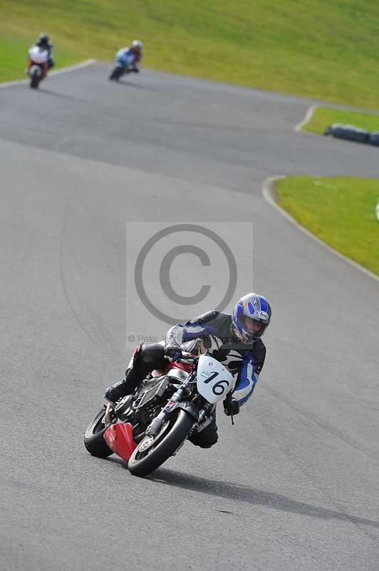
M 254 390 L 266 356 L 261 340 L 271 321 L 271 307 L 263 295 L 248 293 L 240 298 L 232 315 L 208 311 L 194 320 L 174 325 L 167 331 L 164 343 L 142 343 L 135 348 L 125 378 L 105 390 L 110 403 L 133 393 L 138 383 L 152 370 L 165 370 L 165 355 L 177 360 L 182 352 L 197 354 L 207 351 L 237 375 L 232 400 L 224 400 L 224 413 L 236 415 Z M 201 433 L 189 440 L 201 448 L 217 443 L 214 420 Z

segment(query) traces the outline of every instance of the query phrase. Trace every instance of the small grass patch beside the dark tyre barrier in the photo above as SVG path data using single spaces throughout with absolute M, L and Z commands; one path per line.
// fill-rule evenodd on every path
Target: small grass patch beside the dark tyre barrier
M 326 127 L 333 125 L 333 123 L 350 124 L 368 131 L 379 131 L 379 115 L 343 111 L 331 107 L 316 107 L 311 119 L 302 129 L 323 135 Z

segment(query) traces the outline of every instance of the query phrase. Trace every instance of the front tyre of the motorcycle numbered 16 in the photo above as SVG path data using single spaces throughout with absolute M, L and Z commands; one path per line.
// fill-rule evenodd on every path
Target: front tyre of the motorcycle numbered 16
M 193 425 L 194 418 L 185 410 L 173 413 L 157 435 L 146 436 L 135 448 L 128 462 L 130 473 L 147 476 L 159 468 L 184 443 Z

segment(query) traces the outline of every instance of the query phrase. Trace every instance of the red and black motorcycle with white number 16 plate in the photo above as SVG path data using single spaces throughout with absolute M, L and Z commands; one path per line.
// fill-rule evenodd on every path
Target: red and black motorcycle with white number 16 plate
M 128 462 L 130 473 L 145 476 L 207 428 L 219 400 L 232 399 L 233 376 L 211 355 L 169 361 L 115 407 L 103 406 L 85 431 L 90 454 L 106 458 L 116 453 Z

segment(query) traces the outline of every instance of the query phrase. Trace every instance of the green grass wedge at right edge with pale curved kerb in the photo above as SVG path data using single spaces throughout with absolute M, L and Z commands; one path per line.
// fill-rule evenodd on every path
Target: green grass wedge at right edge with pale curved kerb
M 289 176 L 275 188 L 279 206 L 301 226 L 379 276 L 378 180 Z

